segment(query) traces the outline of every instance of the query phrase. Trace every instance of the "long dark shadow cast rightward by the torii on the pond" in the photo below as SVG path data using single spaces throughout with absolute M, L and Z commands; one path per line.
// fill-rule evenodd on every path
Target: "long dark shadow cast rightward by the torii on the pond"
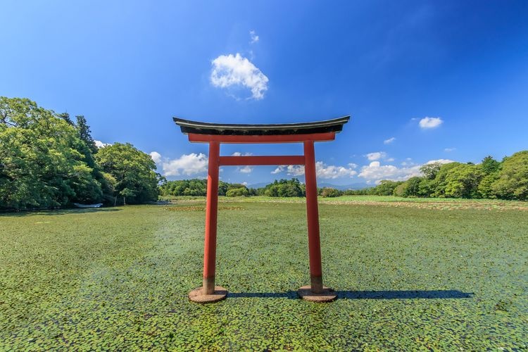
M 382 291 L 335 291 L 337 299 L 449 299 L 472 298 L 472 292 L 459 290 L 382 290 Z M 229 292 L 227 298 L 291 298 L 298 299 L 297 291 L 287 292 Z

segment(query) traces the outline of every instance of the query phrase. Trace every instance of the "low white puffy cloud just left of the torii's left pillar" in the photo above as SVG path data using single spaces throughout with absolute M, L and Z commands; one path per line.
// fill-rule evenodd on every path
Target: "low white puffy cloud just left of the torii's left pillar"
M 151 158 L 163 169 L 163 176 L 196 175 L 207 172 L 208 158 L 203 153 L 183 154 L 180 158 L 163 158 L 158 152 L 153 151 Z

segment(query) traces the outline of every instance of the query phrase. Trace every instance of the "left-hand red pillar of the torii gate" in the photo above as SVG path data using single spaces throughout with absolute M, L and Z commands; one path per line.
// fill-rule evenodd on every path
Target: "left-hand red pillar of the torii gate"
M 216 227 L 218 218 L 218 163 L 220 143 L 209 142 L 207 175 L 206 239 L 203 250 L 203 294 L 215 291 Z

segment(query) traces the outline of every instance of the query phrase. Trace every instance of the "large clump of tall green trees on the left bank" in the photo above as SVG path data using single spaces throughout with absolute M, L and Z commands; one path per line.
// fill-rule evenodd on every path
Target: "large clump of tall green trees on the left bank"
M 0 97 L 0 209 L 158 199 L 161 175 L 132 144 L 97 148 L 82 115 Z

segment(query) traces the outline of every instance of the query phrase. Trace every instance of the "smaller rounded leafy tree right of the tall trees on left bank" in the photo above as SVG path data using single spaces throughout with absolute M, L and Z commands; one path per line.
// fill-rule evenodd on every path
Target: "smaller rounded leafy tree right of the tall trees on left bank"
M 158 198 L 161 175 L 154 171 L 156 163 L 149 154 L 130 143 L 115 143 L 99 149 L 96 161 L 115 178 L 114 196 L 123 196 L 123 203 L 144 203 Z

